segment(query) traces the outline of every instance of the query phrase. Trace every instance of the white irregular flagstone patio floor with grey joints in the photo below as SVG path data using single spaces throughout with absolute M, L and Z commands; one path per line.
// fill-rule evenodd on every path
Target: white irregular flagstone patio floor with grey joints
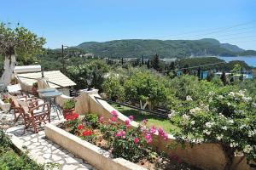
M 63 120 L 63 116 L 61 116 Z M 13 126 L 14 114 L 9 112 L 0 112 L 0 128 L 6 130 L 10 139 L 15 145 L 20 145 L 28 151 L 28 155 L 38 163 L 56 163 L 54 169 L 61 170 L 96 170 L 83 159 L 74 156 L 72 153 L 61 148 L 58 144 L 53 143 L 45 138 L 44 129 L 39 133 L 32 133 L 26 130 L 23 134 L 24 126 L 20 119 L 15 127 Z M 55 113 L 51 113 L 52 122 L 59 121 Z

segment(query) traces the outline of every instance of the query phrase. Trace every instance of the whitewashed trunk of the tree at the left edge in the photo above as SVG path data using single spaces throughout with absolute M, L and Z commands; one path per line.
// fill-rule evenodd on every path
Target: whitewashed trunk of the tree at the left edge
M 12 79 L 12 74 L 15 70 L 15 65 L 17 64 L 16 62 L 16 56 L 15 54 L 9 56 L 5 56 L 4 59 L 4 71 L 3 71 L 3 75 L 1 77 L 0 82 L 3 82 L 5 85 L 9 85 L 9 83 L 11 82 Z

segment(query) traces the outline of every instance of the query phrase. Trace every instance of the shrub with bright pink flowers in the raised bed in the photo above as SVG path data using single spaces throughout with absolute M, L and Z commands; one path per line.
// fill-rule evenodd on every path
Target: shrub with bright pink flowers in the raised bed
M 117 122 L 118 113 L 112 111 L 111 114 L 112 117 L 107 122 L 102 121 L 102 117 L 99 118 L 100 129 L 104 139 L 108 141 L 109 151 L 114 156 L 120 156 L 129 161 L 138 161 L 150 156 L 149 144 L 153 141 L 152 135 L 162 128 L 151 127 L 148 129 L 142 125 L 131 127 L 133 116 L 129 116 L 125 123 L 120 123 Z M 143 122 L 147 123 L 146 120 Z M 166 133 L 163 130 L 161 132 L 167 138 Z

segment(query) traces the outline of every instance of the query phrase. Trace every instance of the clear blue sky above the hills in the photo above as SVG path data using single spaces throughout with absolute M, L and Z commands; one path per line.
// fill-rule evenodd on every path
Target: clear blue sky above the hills
M 117 39 L 216 38 L 256 50 L 256 0 L 0 0 L 0 21 L 20 23 L 45 48 Z

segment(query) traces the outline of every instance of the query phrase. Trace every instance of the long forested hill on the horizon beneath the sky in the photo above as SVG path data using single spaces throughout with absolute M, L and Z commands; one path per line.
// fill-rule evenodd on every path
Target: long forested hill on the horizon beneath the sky
M 256 55 L 256 51 L 244 50 L 236 45 L 220 43 L 216 39 L 201 40 L 113 40 L 109 42 L 83 42 L 77 48 L 87 53 L 108 58 L 147 58 L 160 54 L 161 58 L 183 58 L 204 55 Z

